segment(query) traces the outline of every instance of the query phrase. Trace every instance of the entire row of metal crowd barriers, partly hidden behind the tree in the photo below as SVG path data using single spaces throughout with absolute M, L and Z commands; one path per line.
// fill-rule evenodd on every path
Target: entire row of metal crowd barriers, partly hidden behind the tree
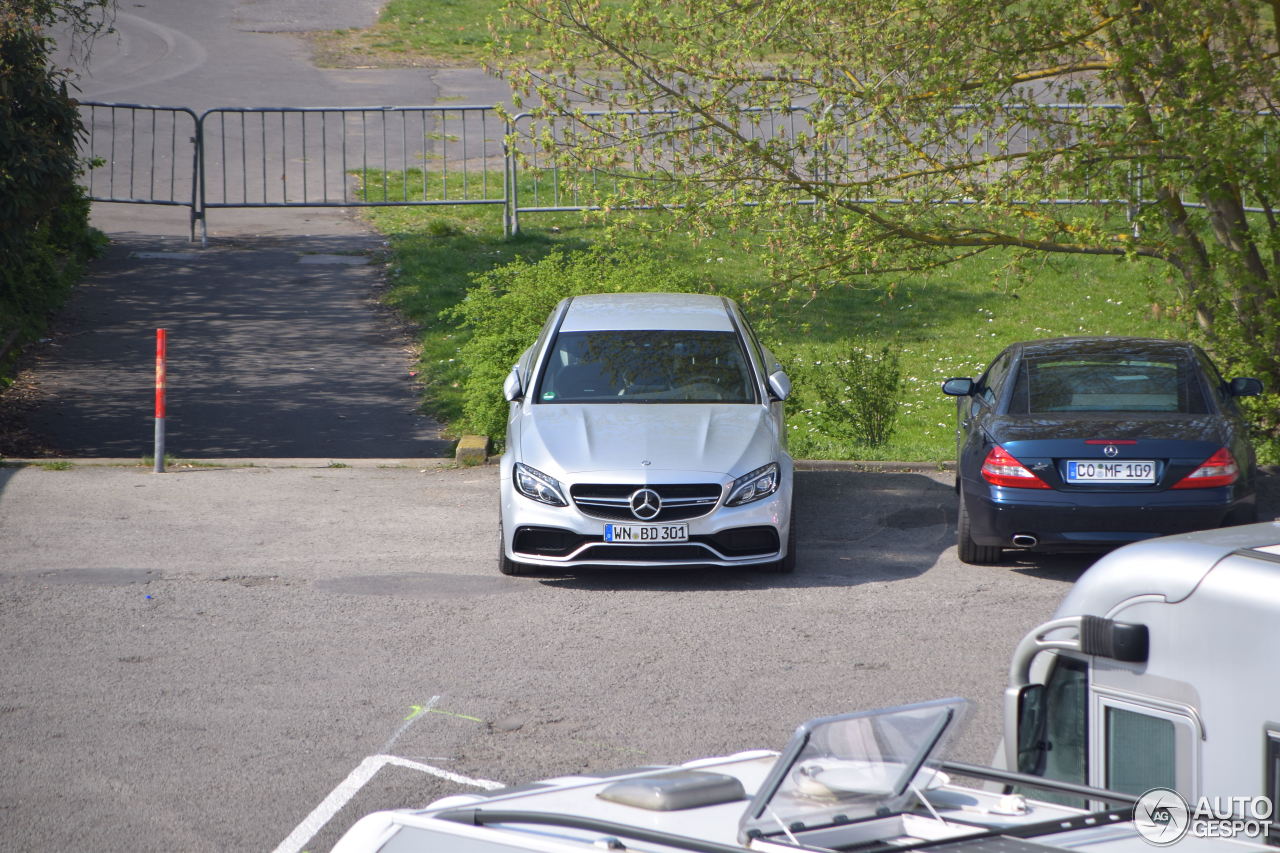
M 536 123 L 531 114 L 504 122 L 494 106 L 366 106 L 366 108 L 219 108 L 197 115 L 187 108 L 142 104 L 81 104 L 86 134 L 82 155 L 88 160 L 84 184 L 93 201 L 175 205 L 189 210 L 191 234 L 200 223 L 207 234 L 206 213 L 227 207 L 317 206 L 431 206 L 500 205 L 507 234 L 520 231 L 522 214 L 598 210 L 604 200 L 618 207 L 622 181 L 652 175 L 669 164 L 668 140 L 694 132 L 700 151 L 714 159 L 735 142 L 791 145 L 812 131 L 805 106 L 788 110 L 740 110 L 732 124 L 681 126 L 673 111 L 588 111 L 581 119 L 611 126 L 620 133 L 652 140 L 643 150 L 625 149 L 616 168 L 566 172 L 548 154 L 575 131 L 567 120 Z M 957 105 L 947 119 L 948 131 L 938 154 L 963 152 L 975 161 L 993 163 L 989 155 L 1016 155 L 1043 142 L 1029 123 L 1019 120 L 1010 105 L 992 122 L 982 108 Z M 1038 105 L 1037 110 L 1079 114 L 1107 122 L 1119 117 L 1116 105 Z M 1088 120 L 1094 120 L 1089 118 Z M 1070 128 L 1073 122 L 1062 122 Z M 852 122 L 850 127 L 855 127 Z M 957 131 L 964 128 L 966 133 Z M 923 133 L 927 128 L 918 128 Z M 865 137 L 837 141 L 822 155 L 810 154 L 805 167 L 822 181 L 837 172 L 845 179 L 873 174 L 859 160 Z M 914 146 L 920 140 L 910 138 Z M 1069 140 L 1059 140 L 1066 143 Z M 884 150 L 891 145 L 886 140 Z M 927 149 L 927 143 L 922 143 Z M 922 149 L 922 150 L 924 150 Z M 188 164 L 189 167 L 184 165 Z M 988 167 L 983 181 L 998 181 L 1000 165 Z M 1101 186 L 1119 190 L 1114 197 L 1089 201 L 1039 199 L 1025 204 L 1125 205 L 1132 214 L 1142 199 L 1142 175 L 1100 174 Z M 749 187 L 750 179 L 744 182 Z M 1093 196 L 1085 188 L 1087 196 Z M 745 196 L 744 196 L 745 197 Z M 851 200 L 858 204 L 904 204 L 902 199 Z M 749 201 L 745 201 L 750 204 Z M 795 193 L 796 205 L 814 205 L 812 195 Z M 947 199 L 945 204 L 977 204 L 973 199 Z M 1199 206 L 1192 200 L 1184 204 Z M 632 202 L 632 209 L 643 204 Z M 1251 209 L 1252 210 L 1252 209 Z

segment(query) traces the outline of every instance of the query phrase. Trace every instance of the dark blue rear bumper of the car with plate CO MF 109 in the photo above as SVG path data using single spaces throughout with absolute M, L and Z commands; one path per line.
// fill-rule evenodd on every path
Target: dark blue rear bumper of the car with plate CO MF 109
M 1235 488 L 1069 494 L 965 484 L 964 496 L 977 544 L 1011 548 L 1023 534 L 1034 537 L 1034 551 L 1093 551 L 1221 528 L 1249 520 L 1256 506 L 1253 493 Z

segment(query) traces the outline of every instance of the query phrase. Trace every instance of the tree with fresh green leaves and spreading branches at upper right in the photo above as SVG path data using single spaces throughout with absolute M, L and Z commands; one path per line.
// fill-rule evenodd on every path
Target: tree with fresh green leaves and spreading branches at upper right
M 765 234 L 809 287 L 993 250 L 1152 259 L 1192 332 L 1280 389 L 1275 0 L 508 0 L 504 14 L 545 40 L 543 59 L 515 44 L 502 59 L 532 111 L 558 117 L 541 142 L 626 177 L 612 204 Z M 1089 204 L 1041 204 L 1062 199 Z M 1280 439 L 1276 401 L 1256 414 Z

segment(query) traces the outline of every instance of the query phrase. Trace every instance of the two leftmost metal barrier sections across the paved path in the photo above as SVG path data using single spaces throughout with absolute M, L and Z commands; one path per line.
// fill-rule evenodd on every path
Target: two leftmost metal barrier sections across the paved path
M 493 106 L 186 108 L 82 101 L 93 201 L 225 207 L 508 205 Z M 187 159 L 189 167 L 178 168 Z

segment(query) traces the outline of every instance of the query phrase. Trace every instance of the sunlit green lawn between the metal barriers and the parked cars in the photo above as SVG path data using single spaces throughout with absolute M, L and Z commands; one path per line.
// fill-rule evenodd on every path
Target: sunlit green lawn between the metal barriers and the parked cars
M 460 179 L 451 175 L 451 184 Z M 394 178 L 388 181 L 392 195 L 401 192 Z M 531 178 L 522 181 L 522 192 L 531 192 Z M 421 183 L 421 177 L 411 175 L 410 183 Z M 380 192 L 380 179 L 376 186 Z M 460 188 L 453 186 L 451 192 L 457 195 Z M 955 402 L 942 394 L 941 382 L 978 375 L 1014 341 L 1184 336 L 1180 321 L 1165 313 L 1157 316 L 1152 309 L 1172 297 L 1166 270 L 1151 264 L 1082 256 L 1041 256 L 1015 264 L 992 252 L 929 273 L 856 280 L 806 301 L 787 301 L 776 296 L 764 257 L 745 252 L 736 245 L 740 241 L 719 236 L 696 242 L 660 234 L 644 227 L 645 218 L 607 232 L 581 214 L 525 214 L 521 233 L 507 240 L 500 206 L 378 207 L 366 215 L 390 240 L 388 301 L 421 327 L 424 406 L 453 425 L 453 434 L 465 426 L 460 421 L 466 365 L 458 347 L 466 332 L 443 321 L 440 311 L 463 297 L 474 274 L 517 256 L 536 260 L 556 247 L 584 248 L 607 241 L 685 266 L 708 289 L 739 298 L 783 360 L 795 357 L 797 345 L 813 359 L 835 360 L 855 339 L 891 342 L 904 377 L 893 439 L 876 448 L 842 442 L 818 432 L 803 411 L 792 411 L 791 448 L 805 459 L 952 459 Z

